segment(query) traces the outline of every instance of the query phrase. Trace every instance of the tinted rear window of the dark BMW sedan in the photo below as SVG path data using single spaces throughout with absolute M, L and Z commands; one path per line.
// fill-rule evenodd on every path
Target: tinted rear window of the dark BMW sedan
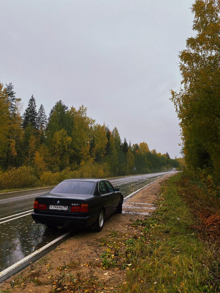
M 69 193 L 69 194 L 92 194 L 94 182 L 90 181 L 63 181 L 58 184 L 50 193 Z

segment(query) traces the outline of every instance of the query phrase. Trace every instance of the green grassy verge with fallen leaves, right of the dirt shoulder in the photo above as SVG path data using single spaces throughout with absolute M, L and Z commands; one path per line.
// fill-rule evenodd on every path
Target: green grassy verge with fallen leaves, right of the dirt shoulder
M 219 292 L 219 252 L 201 241 L 190 226 L 190 207 L 178 195 L 181 174 L 161 189 L 159 207 L 152 217 L 132 225 L 143 237 L 127 247 L 127 281 L 121 292 Z

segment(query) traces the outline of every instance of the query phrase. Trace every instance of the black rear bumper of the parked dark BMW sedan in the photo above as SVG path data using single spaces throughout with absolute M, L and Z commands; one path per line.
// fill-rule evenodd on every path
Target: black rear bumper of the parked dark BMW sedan
M 87 217 L 71 217 L 71 216 L 59 216 L 51 214 L 31 213 L 32 218 L 36 223 L 51 226 L 62 226 L 72 228 L 87 228 L 95 223 L 98 217 L 98 213 L 89 215 Z

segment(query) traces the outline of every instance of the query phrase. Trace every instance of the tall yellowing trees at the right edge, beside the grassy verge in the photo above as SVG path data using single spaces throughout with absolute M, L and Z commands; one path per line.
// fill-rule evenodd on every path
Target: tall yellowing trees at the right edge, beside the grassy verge
M 195 36 L 179 54 L 182 82 L 172 93 L 182 128 L 182 154 L 187 167 L 206 186 L 220 179 L 220 2 L 192 5 Z M 217 192 L 217 189 L 215 189 Z

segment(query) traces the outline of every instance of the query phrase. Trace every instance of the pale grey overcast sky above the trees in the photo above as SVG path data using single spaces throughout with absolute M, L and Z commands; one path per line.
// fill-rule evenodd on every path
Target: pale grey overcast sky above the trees
M 87 106 L 97 123 L 131 143 L 179 157 L 170 88 L 177 54 L 193 35 L 192 0 L 1 0 L 0 82 L 23 109 L 33 94 L 46 113 L 57 100 Z

